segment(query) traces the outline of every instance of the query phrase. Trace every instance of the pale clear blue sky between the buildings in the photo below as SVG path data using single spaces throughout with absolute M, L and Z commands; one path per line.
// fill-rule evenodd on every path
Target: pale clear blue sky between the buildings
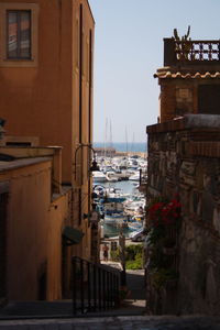
M 220 38 L 220 0 L 89 0 L 95 30 L 94 141 L 144 142 L 158 116 L 163 38 L 191 26 L 193 40 Z

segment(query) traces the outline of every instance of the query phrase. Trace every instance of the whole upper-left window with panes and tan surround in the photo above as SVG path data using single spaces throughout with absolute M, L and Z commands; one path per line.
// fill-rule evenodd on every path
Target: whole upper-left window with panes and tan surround
M 37 65 L 37 15 L 35 3 L 0 3 L 0 66 Z

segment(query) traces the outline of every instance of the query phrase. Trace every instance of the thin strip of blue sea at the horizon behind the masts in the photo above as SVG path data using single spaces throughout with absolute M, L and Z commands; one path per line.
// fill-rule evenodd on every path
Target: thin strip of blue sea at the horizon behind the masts
M 147 142 L 94 142 L 94 147 L 114 147 L 117 152 L 146 152 Z

